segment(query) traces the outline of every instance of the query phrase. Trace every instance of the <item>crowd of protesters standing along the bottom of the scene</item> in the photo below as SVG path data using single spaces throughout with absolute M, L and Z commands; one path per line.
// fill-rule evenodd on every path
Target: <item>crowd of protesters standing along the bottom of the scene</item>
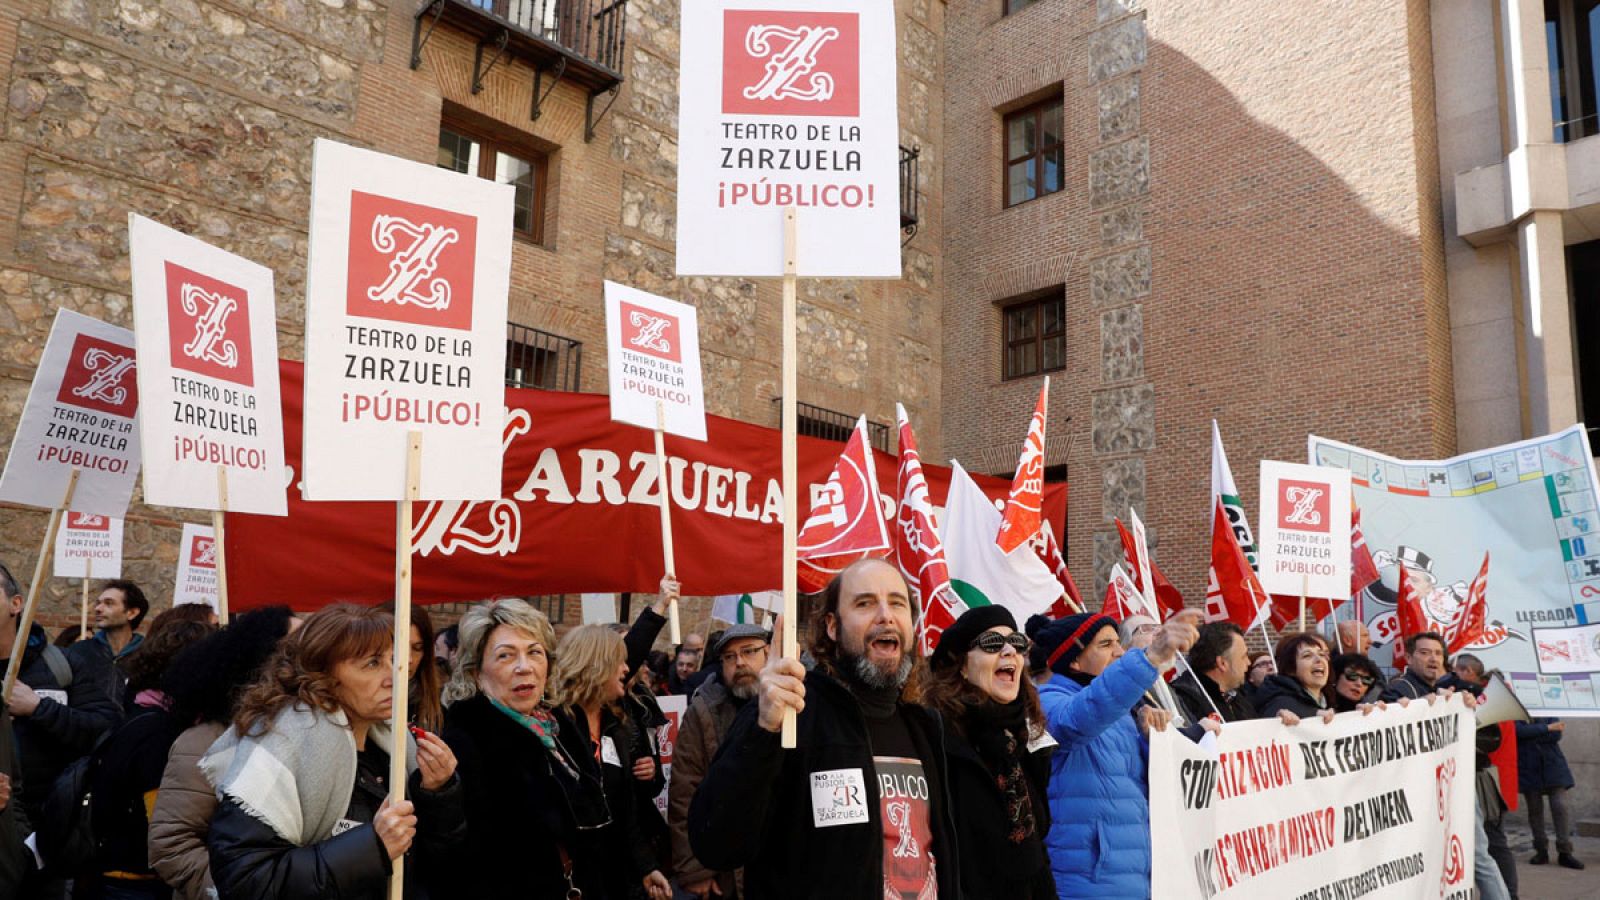
M 677 589 L 662 580 L 629 626 L 560 639 L 520 599 L 438 633 L 414 609 L 397 733 L 389 610 L 274 607 L 219 628 L 182 605 L 146 623 L 138 585 L 110 581 L 96 629 L 58 647 L 37 625 L 16 634 L 22 589 L 0 567 L 0 663 L 22 653 L 0 706 L 0 897 L 376 900 L 403 858 L 411 898 L 1139 898 L 1152 730 L 1293 727 L 1490 681 L 1432 633 L 1406 637 L 1386 682 L 1358 623 L 1342 652 L 1288 633 L 1251 653 L 1197 612 L 1019 625 L 982 605 L 922 658 L 882 559 L 811 599 L 800 660 L 755 625 L 653 652 Z M 670 778 L 666 693 L 686 697 Z M 1582 868 L 1563 729 L 1515 725 L 1530 862 L 1549 862 L 1549 809 L 1558 863 Z M 1498 738 L 1478 733 L 1488 900 L 1517 895 Z

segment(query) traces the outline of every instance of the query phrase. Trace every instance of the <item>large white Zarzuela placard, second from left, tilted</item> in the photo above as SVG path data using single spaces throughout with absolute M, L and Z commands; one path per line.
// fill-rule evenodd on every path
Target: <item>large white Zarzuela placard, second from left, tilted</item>
M 144 500 L 286 516 L 272 269 L 128 216 Z

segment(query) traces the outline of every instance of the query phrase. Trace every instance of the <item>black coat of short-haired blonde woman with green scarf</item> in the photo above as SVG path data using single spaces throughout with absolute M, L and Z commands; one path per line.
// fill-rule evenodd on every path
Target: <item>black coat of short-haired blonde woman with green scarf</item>
M 562 786 L 555 773 L 560 762 L 539 737 L 486 697 L 458 700 L 445 709 L 443 738 L 456 754 L 467 809 L 467 844 L 453 873 L 459 897 L 565 897 L 563 850 L 584 900 L 616 900 L 605 894 L 606 868 L 634 874 L 635 865 L 624 863 L 634 858 L 634 849 L 606 842 L 602 834 L 611 810 L 600 764 L 570 719 L 558 717 L 557 732 L 579 770 L 581 785 L 573 793 Z

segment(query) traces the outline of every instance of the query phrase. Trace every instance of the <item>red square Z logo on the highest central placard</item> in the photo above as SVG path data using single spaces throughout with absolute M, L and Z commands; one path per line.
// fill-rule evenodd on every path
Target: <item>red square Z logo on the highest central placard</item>
M 725 10 L 722 112 L 858 115 L 861 16 Z

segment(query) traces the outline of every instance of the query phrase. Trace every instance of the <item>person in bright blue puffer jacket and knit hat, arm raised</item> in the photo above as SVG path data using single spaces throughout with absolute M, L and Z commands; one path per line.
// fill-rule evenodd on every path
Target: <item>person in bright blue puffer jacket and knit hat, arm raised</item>
M 1197 612 L 1181 613 L 1149 647 L 1126 655 L 1117 621 L 1107 615 L 1027 623 L 1053 673 L 1038 689 L 1038 703 L 1061 745 L 1051 759 L 1053 823 L 1045 847 L 1062 900 L 1150 897 L 1149 743 L 1134 706 L 1195 642 L 1197 620 Z

